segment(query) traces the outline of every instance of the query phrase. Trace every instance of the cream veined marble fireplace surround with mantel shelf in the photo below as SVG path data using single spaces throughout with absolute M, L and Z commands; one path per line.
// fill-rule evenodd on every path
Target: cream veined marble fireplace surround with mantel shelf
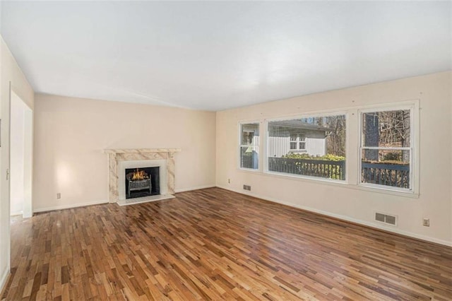
M 174 194 L 174 153 L 180 148 L 132 148 L 132 149 L 106 149 L 108 155 L 108 200 L 110 203 L 119 201 L 118 167 L 121 161 L 138 160 L 166 160 L 167 166 L 167 193 Z

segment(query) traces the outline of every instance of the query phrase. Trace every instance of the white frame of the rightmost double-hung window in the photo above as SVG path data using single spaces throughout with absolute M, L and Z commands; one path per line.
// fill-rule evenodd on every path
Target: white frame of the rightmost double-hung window
M 419 165 L 417 160 L 417 149 L 419 148 L 417 141 L 417 135 L 419 133 L 419 129 L 417 129 L 417 122 L 418 115 L 416 114 L 419 112 L 418 110 L 418 102 L 409 102 L 403 105 L 403 104 L 383 104 L 379 106 L 369 106 L 369 107 L 363 107 L 358 110 L 358 170 L 357 170 L 357 185 L 358 187 L 366 187 L 371 189 L 379 189 L 379 190 L 386 190 L 386 191 L 394 191 L 394 192 L 402 192 L 404 194 L 417 194 L 417 187 L 419 182 L 419 176 L 417 173 L 417 166 Z M 394 147 L 394 148 L 388 148 L 388 147 L 380 147 L 380 146 L 364 146 L 364 139 L 363 139 L 363 114 L 365 113 L 372 113 L 372 112 L 388 112 L 388 111 L 399 111 L 399 110 L 409 110 L 410 111 L 410 146 L 409 147 Z M 403 188 L 403 187 L 392 187 L 389 185 L 382 185 L 382 184 L 374 184 L 374 183 L 366 183 L 362 182 L 362 153 L 364 150 L 393 150 L 393 151 L 410 151 L 410 188 Z M 416 175 L 415 178 L 413 178 L 413 175 Z

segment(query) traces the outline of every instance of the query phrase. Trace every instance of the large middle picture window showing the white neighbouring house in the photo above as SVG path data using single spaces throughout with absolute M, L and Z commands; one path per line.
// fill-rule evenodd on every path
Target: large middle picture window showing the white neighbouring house
M 345 114 L 268 122 L 268 172 L 345 180 Z

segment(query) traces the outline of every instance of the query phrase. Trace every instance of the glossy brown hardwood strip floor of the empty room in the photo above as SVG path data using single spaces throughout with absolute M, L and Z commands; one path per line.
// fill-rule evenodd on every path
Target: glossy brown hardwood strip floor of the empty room
M 6 300 L 451 300 L 452 248 L 219 188 L 11 225 Z

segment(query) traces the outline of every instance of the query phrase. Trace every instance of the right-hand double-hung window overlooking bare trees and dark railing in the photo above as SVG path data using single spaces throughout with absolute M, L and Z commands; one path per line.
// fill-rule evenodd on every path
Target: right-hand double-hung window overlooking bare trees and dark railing
M 374 110 L 361 114 L 361 183 L 412 189 L 412 113 Z

